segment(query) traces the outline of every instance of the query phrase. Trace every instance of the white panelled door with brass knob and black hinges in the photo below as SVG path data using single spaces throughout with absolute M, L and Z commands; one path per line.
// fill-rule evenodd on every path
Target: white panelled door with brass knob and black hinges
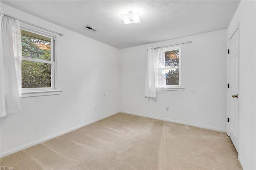
M 238 27 L 230 38 L 228 55 L 228 128 L 227 134 L 236 150 L 239 150 L 239 112 L 238 112 Z

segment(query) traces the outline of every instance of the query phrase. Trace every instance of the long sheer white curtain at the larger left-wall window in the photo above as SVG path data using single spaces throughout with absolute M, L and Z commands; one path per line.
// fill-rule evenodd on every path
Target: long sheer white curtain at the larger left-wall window
M 20 111 L 21 98 L 21 35 L 19 20 L 1 16 L 0 52 L 0 117 Z

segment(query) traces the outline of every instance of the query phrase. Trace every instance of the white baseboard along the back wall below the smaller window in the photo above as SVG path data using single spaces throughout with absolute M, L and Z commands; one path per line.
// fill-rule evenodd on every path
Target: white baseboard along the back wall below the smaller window
M 227 132 L 226 129 L 220 129 L 220 128 L 210 127 L 210 126 L 205 126 L 205 125 L 198 125 L 198 124 L 195 124 L 195 123 L 188 123 L 188 122 L 184 122 L 184 121 L 176 121 L 176 120 L 171 120 L 171 119 L 164 119 L 164 118 L 154 117 L 154 116 L 149 116 L 149 115 L 130 113 L 130 112 L 127 112 L 127 111 L 120 111 L 120 113 L 126 113 L 126 114 L 130 114 L 130 115 L 137 115 L 137 116 L 142 116 L 142 117 L 148 117 L 148 118 L 152 118 L 152 119 L 169 121 L 169 122 L 173 122 L 173 123 L 179 123 L 179 124 L 182 124 L 182 125 L 190 125 L 190 126 L 194 126 L 194 127 L 200 127 L 200 128 L 204 128 L 204 129 L 210 129 L 210 130 L 220 131 L 220 132 L 225 132 L 225 133 Z

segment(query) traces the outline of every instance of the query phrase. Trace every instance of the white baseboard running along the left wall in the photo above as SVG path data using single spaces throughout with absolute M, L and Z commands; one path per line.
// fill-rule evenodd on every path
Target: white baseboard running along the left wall
M 115 114 L 117 114 L 117 113 L 120 113 L 120 111 L 117 111 L 117 112 L 115 112 L 115 113 L 111 113 L 111 114 L 109 114 L 109 115 L 100 117 L 100 118 L 95 119 L 95 120 L 93 120 L 93 121 L 84 123 L 84 124 L 82 124 L 82 125 L 73 127 L 73 128 L 71 128 L 71 129 L 68 129 L 68 130 L 66 130 L 66 131 L 62 131 L 62 132 L 60 132 L 60 133 L 56 133 L 56 134 L 51 135 L 51 136 L 49 136 L 49 137 L 46 137 L 46 138 L 44 138 L 44 139 L 40 139 L 40 140 L 38 140 L 38 141 L 34 141 L 34 142 L 29 143 L 29 144 L 27 144 L 27 145 L 23 145 L 23 146 L 21 146 L 21 147 L 15 148 L 15 149 L 8 150 L 8 151 L 6 151 L 6 152 L 1 153 L 1 154 L 0 154 L 0 158 L 2 158 L 2 157 L 4 157 L 4 156 L 7 156 L 7 155 L 9 155 L 9 154 L 13 154 L 13 153 L 18 152 L 18 151 L 23 150 L 23 149 L 27 149 L 27 148 L 32 147 L 32 146 L 34 146 L 34 145 L 37 145 L 37 144 L 39 144 L 39 143 L 48 141 L 48 140 L 53 139 L 53 138 L 55 138 L 55 137 L 58 137 L 58 136 L 60 136 L 60 135 L 64 135 L 64 134 L 66 134 L 66 133 L 69 133 L 69 132 L 71 132 L 71 131 L 74 131 L 74 130 L 76 130 L 76 129 L 79 129 L 80 127 L 83 127 L 83 126 L 85 126 L 85 125 L 89 125 L 89 124 L 94 123 L 94 122 L 96 122 L 96 121 L 99 121 L 99 120 L 101 120 L 101 119 L 105 119 L 106 117 L 110 117 L 110 116 L 115 115 Z

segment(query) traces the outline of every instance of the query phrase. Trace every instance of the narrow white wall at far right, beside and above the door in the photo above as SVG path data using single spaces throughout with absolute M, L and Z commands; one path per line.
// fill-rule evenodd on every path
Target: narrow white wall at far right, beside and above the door
M 227 35 L 240 22 L 240 70 L 239 70 L 239 160 L 244 169 L 256 169 L 256 109 L 255 109 L 255 1 L 240 2 L 227 29 Z

